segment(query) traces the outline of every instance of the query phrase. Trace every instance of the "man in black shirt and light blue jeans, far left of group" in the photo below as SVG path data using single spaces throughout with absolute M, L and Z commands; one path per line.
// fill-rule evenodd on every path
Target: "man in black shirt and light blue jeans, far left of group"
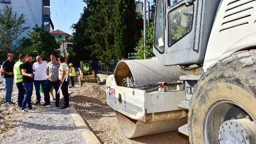
M 13 59 L 13 53 L 7 54 L 8 59 L 6 59 L 3 62 L 3 68 L 1 69 L 2 73 L 4 73 L 4 86 L 5 86 L 5 102 L 10 104 L 15 104 L 11 101 L 11 93 L 12 93 L 12 87 L 13 87 L 13 66 L 14 63 L 12 61 Z

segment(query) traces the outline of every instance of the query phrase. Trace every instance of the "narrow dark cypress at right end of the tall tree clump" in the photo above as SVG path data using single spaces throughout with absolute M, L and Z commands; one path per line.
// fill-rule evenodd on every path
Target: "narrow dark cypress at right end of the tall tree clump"
M 134 52 L 136 6 L 134 0 L 115 0 L 114 8 L 114 50 L 117 59 L 127 58 L 129 52 Z

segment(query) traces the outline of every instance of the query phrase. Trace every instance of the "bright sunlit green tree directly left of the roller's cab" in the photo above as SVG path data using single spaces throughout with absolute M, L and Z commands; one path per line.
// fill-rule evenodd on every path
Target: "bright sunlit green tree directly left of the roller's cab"
M 146 27 L 146 48 L 144 47 L 144 32 L 142 31 L 142 38 L 139 40 L 138 45 L 135 48 L 137 59 L 144 59 L 144 52 L 146 59 L 154 57 L 153 54 L 153 39 L 154 39 L 154 22 L 151 22 Z

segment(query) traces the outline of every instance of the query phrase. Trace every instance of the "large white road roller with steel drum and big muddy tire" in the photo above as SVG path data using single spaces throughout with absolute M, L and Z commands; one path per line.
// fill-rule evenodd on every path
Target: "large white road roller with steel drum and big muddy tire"
M 256 144 L 256 0 L 157 0 L 153 53 L 120 61 L 107 103 L 128 138 Z

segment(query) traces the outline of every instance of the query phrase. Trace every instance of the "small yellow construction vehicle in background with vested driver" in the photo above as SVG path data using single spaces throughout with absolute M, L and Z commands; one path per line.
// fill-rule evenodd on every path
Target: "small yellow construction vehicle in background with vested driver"
M 98 83 L 98 79 L 96 78 L 95 71 L 91 68 L 91 65 L 92 65 L 92 61 L 89 61 L 89 60 L 80 62 L 80 68 L 78 68 L 79 85 L 83 85 L 83 83 Z

